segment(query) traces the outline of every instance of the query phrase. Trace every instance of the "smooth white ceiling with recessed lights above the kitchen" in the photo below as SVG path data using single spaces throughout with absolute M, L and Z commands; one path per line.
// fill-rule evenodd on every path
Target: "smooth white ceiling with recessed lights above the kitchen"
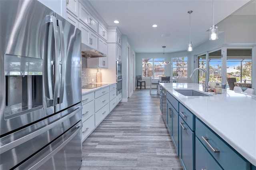
M 244 6 L 249 0 L 215 0 L 214 24 Z M 234 14 L 256 13 L 256 0 Z M 186 51 L 189 42 L 189 14 L 191 14 L 191 42 L 194 47 L 209 39 L 206 32 L 213 24 L 212 0 L 89 0 L 108 26 L 118 26 L 128 37 L 136 53 L 166 53 Z M 253 4 L 253 5 L 252 5 Z M 119 24 L 114 24 L 118 20 Z M 152 25 L 158 27 L 153 28 Z M 219 31 L 224 31 L 219 28 Z M 162 34 L 170 36 L 162 37 Z

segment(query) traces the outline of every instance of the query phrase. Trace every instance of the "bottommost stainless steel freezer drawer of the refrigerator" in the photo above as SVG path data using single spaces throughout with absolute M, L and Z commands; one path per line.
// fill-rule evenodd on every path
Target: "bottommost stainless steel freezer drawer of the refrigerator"
M 82 121 L 79 121 L 17 170 L 79 170 L 81 164 Z

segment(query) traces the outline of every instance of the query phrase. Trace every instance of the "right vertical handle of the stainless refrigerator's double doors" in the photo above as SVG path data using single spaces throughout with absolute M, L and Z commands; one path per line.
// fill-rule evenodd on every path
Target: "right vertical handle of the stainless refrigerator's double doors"
M 59 33 L 60 33 L 60 49 L 61 49 L 61 60 L 60 60 L 60 94 L 58 96 L 58 103 L 63 102 L 63 95 L 64 95 L 64 86 L 65 86 L 65 77 L 66 77 L 66 55 L 65 55 L 65 47 L 64 47 L 64 32 L 63 32 L 63 26 L 62 21 L 57 20 L 57 24 L 59 27 Z

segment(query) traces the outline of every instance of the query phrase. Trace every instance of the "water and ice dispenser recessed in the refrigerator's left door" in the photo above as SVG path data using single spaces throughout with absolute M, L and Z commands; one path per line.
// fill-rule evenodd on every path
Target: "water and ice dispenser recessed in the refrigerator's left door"
M 43 59 L 5 54 L 5 119 L 41 109 Z

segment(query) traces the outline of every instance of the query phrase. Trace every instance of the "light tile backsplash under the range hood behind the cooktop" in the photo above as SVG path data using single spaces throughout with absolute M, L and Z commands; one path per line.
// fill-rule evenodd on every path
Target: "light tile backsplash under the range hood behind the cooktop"
M 87 68 L 87 58 L 82 57 L 82 85 L 92 83 L 92 79 L 94 79 L 93 83 L 96 83 L 96 73 L 97 69 Z

